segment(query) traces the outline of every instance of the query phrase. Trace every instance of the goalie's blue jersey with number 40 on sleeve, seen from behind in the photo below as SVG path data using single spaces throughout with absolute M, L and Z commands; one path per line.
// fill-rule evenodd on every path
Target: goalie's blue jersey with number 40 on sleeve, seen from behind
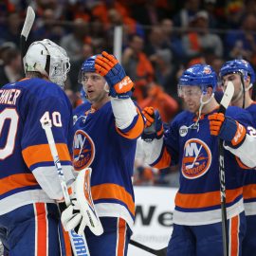
M 9 83 L 0 89 L 0 214 L 63 198 L 42 118 L 52 121 L 66 181 L 73 178 L 72 108 L 64 91 L 41 79 Z

